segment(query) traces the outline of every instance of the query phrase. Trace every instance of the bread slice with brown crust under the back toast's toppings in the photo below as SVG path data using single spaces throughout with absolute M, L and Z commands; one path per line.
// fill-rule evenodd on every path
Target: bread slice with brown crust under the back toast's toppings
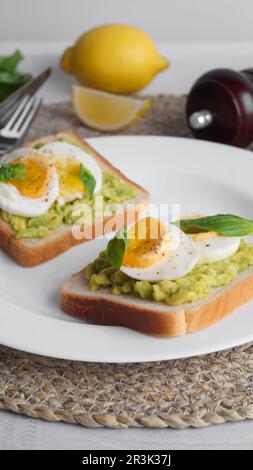
M 60 138 L 68 138 L 71 141 L 76 142 L 86 152 L 88 152 L 100 165 L 102 170 L 109 171 L 117 175 L 124 182 L 133 186 L 136 190 L 136 197 L 133 200 L 125 201 L 122 206 L 124 208 L 124 216 L 126 217 L 126 205 L 127 204 L 140 204 L 147 205 L 149 201 L 149 193 L 139 185 L 128 179 L 123 175 L 117 168 L 111 165 L 105 158 L 103 158 L 93 147 L 91 147 L 81 137 L 77 136 L 72 132 L 60 132 L 56 135 L 50 135 L 46 137 L 40 137 L 33 142 L 25 144 L 25 147 L 33 147 L 40 142 L 50 142 Z M 136 213 L 132 212 L 129 216 L 129 221 L 134 221 Z M 131 219 L 132 217 L 132 219 Z M 122 218 L 122 216 L 121 216 Z M 92 233 L 96 236 L 100 236 L 103 233 L 109 232 L 110 229 L 114 230 L 116 224 L 119 224 L 119 217 L 117 214 L 107 216 L 101 219 L 95 220 L 92 224 Z M 122 222 L 122 224 L 125 221 Z M 105 228 L 107 226 L 107 229 Z M 102 233 L 101 233 L 102 232 Z M 95 235 L 94 235 L 95 236 Z M 25 267 L 36 266 L 38 264 L 49 261 L 52 258 L 60 255 L 61 253 L 69 250 L 71 247 L 88 241 L 82 238 L 77 240 L 72 236 L 72 226 L 62 224 L 61 227 L 56 229 L 50 236 L 38 239 L 38 238 L 27 238 L 17 240 L 11 226 L 0 219 L 0 248 L 2 248 L 8 255 L 10 255 L 15 261 Z

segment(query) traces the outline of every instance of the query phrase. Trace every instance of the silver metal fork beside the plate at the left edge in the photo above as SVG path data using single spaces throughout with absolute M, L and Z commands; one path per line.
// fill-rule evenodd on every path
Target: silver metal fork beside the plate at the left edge
M 5 126 L 0 129 L 0 157 L 24 138 L 42 103 L 41 98 L 25 95 Z

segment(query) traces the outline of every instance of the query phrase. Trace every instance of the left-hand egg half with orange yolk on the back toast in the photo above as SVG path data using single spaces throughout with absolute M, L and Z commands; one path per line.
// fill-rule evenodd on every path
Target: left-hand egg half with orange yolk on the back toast
M 45 214 L 59 194 L 58 176 L 52 163 L 30 148 L 14 150 L 2 163 L 22 163 L 26 176 L 22 181 L 0 182 L 0 208 L 25 217 Z

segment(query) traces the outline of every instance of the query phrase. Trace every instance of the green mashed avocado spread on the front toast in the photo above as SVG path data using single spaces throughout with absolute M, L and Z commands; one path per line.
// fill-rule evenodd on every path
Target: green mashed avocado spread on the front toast
M 229 258 L 210 264 L 197 264 L 190 273 L 174 281 L 136 281 L 111 267 L 105 252 L 100 253 L 84 269 L 84 275 L 93 291 L 108 288 L 116 295 L 134 295 L 177 306 L 210 295 L 214 287 L 229 284 L 239 272 L 250 266 L 253 266 L 253 245 L 241 241 L 237 252 Z

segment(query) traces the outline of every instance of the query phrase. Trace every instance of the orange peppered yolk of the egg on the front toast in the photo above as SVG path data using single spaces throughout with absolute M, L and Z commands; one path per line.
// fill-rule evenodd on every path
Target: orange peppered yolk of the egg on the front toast
M 146 217 L 130 227 L 127 239 L 123 265 L 146 268 L 168 255 L 172 235 L 165 224 L 152 217 Z

